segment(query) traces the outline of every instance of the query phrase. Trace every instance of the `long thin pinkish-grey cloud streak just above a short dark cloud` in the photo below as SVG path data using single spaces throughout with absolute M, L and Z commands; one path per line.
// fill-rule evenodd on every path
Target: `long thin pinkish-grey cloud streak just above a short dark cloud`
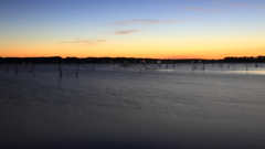
M 187 21 L 178 21 L 178 20 L 152 20 L 152 19 L 135 19 L 129 21 L 117 21 L 112 24 L 130 24 L 130 23 L 184 23 Z

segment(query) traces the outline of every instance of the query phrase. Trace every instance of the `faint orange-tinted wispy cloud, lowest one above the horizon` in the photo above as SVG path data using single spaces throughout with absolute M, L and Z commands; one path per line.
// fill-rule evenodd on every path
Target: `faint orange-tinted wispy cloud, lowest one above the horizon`
M 86 40 L 83 38 L 75 38 L 75 40 L 71 41 L 60 41 L 62 44 L 75 44 L 76 46 L 91 46 L 99 43 L 106 42 L 106 40 Z

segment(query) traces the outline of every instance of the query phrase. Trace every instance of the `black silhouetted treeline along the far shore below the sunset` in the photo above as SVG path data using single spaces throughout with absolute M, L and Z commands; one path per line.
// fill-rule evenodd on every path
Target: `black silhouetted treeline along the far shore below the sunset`
M 0 63 L 264 63 L 265 56 L 257 57 L 224 57 L 223 60 L 202 60 L 202 58 L 137 58 L 137 57 L 0 57 Z

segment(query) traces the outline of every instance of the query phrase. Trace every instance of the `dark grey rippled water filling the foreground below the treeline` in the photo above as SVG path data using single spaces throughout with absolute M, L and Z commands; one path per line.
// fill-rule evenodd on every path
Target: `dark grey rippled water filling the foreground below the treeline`
M 0 148 L 265 148 L 265 67 L 6 65 Z

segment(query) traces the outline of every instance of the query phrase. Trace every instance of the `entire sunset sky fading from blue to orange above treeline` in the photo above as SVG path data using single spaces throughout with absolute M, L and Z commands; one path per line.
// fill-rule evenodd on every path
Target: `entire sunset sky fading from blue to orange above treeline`
M 265 0 L 1 0 L 0 56 L 265 55 Z

